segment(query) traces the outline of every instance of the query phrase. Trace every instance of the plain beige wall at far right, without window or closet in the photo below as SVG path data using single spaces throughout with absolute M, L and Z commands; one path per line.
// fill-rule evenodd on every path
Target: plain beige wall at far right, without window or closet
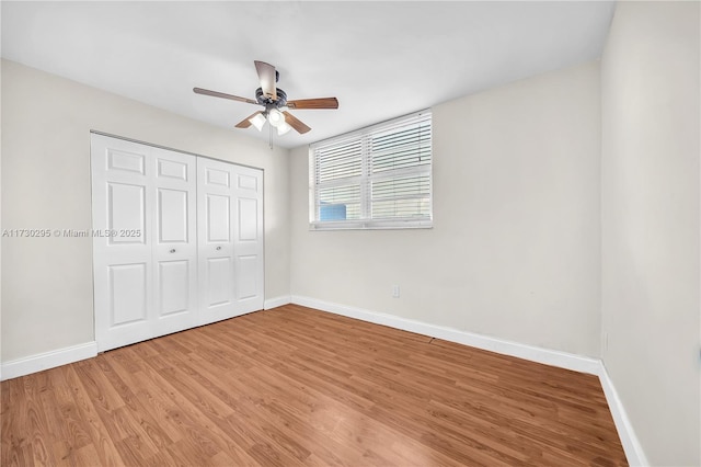
M 621 2 L 601 61 L 602 356 L 652 465 L 701 465 L 699 20 Z

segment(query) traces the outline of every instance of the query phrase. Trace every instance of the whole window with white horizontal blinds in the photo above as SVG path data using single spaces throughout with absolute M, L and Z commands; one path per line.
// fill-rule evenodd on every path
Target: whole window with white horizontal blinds
M 309 148 L 310 227 L 432 227 L 430 111 Z

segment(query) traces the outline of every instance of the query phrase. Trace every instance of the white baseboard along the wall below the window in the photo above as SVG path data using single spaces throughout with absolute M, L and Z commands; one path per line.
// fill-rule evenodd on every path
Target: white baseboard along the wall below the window
M 573 369 L 579 373 L 587 373 L 589 375 L 598 375 L 599 367 L 601 365 L 601 362 L 598 358 L 537 348 L 533 345 L 460 331 L 458 329 L 447 328 L 444 326 L 429 324 L 422 321 L 400 318 L 393 315 L 332 304 L 329 301 L 318 300 L 315 298 L 292 295 L 291 303 L 310 308 L 317 308 L 322 311 L 347 316 L 348 318 L 374 322 L 376 324 L 383 324 L 404 331 L 430 335 L 432 338 L 444 339 L 446 341 L 457 342 L 459 344 L 470 345 L 504 355 L 516 356 L 531 362 Z

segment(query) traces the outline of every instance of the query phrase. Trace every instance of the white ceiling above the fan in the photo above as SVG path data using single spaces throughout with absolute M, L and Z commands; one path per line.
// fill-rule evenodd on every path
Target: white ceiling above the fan
M 233 129 L 258 107 L 253 60 L 273 64 L 312 127 L 297 147 L 544 71 L 600 57 L 611 1 L 12 2 L 2 57 Z

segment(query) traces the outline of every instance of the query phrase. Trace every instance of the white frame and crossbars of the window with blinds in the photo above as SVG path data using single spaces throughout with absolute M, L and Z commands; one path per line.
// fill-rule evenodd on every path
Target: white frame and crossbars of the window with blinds
M 381 179 L 381 174 L 375 174 L 371 176 L 368 172 L 367 168 L 367 158 L 363 158 L 363 170 L 361 174 L 355 178 L 346 178 L 334 182 L 326 182 L 324 187 L 331 187 L 335 183 L 337 185 L 346 185 L 348 182 L 356 182 L 360 184 L 360 209 L 361 209 L 361 219 L 354 220 L 317 220 L 317 186 L 315 186 L 315 158 L 314 158 L 314 149 L 319 146 L 324 146 L 330 143 L 341 144 L 344 140 L 353 140 L 363 138 L 365 135 L 371 134 L 374 132 L 382 130 L 391 128 L 392 126 L 400 126 L 403 122 L 417 118 L 426 113 L 432 113 L 429 109 L 415 112 L 413 114 L 404 115 L 398 118 L 393 118 L 390 121 L 381 122 L 365 128 L 357 129 L 355 132 L 350 132 L 344 135 L 335 136 L 332 138 L 327 138 L 321 141 L 313 143 L 309 146 L 309 229 L 310 230 L 367 230 L 367 229 L 429 229 L 433 228 L 433 129 L 432 129 L 432 157 L 430 164 L 428 169 L 425 166 L 410 167 L 405 169 L 399 169 L 395 171 L 391 171 L 388 173 L 387 178 L 398 178 L 403 175 L 412 175 L 412 174 L 421 174 L 428 173 L 428 186 L 429 186 L 429 216 L 427 218 L 422 219 L 370 219 L 368 209 L 371 204 L 369 190 L 364 190 L 364 186 L 367 186 L 370 180 Z M 433 119 L 433 117 L 432 117 Z M 433 126 L 433 122 L 432 122 Z M 365 149 L 364 149 L 365 151 Z M 399 200 L 399 198 L 398 198 Z

